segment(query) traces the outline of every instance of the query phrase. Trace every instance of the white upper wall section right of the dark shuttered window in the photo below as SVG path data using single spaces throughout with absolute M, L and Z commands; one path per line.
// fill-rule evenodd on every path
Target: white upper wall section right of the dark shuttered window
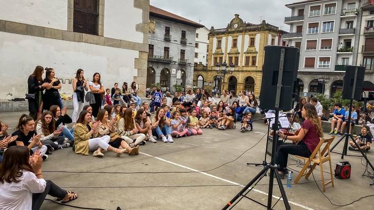
M 104 10 L 104 37 L 143 42 L 143 34 L 135 31 L 142 10 L 134 8 L 133 0 L 105 1 Z

